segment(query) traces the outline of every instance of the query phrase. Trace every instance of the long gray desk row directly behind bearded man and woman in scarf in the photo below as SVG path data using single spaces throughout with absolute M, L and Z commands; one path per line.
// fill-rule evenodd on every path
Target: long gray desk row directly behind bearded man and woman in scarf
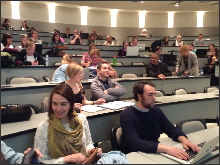
M 32 99 L 34 100 L 34 98 Z M 159 102 L 156 104 L 173 124 L 184 119 L 216 118 L 219 113 L 219 97 L 213 93 L 163 96 L 157 97 L 157 101 Z M 88 119 L 94 143 L 110 139 L 111 129 L 120 126 L 122 110 L 124 108 L 105 109 L 94 113 L 81 112 Z M 36 128 L 41 121 L 47 118 L 46 112 L 32 115 L 29 121 L 1 124 L 1 138 L 16 152 L 23 152 L 28 147 L 33 147 Z

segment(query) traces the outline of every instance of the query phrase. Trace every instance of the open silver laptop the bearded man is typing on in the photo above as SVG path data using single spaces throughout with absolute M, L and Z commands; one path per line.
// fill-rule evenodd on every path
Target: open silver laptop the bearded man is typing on
M 212 139 L 208 142 L 203 142 L 203 143 L 198 144 L 198 146 L 201 147 L 201 150 L 198 153 L 196 153 L 196 155 L 190 157 L 190 159 L 188 159 L 188 160 L 182 160 L 182 159 L 176 158 L 176 157 L 171 156 L 166 153 L 161 153 L 161 155 L 165 156 L 169 159 L 172 159 L 178 163 L 181 163 L 181 164 L 194 164 L 197 161 L 199 161 L 200 159 L 204 158 L 209 153 L 214 152 L 216 150 L 219 150 L 219 148 L 216 146 L 218 143 L 219 143 L 219 136 L 215 137 L 214 139 Z M 179 143 L 179 144 L 175 145 L 174 147 L 183 149 L 182 143 Z M 188 153 L 188 151 L 186 151 L 186 152 Z M 193 153 L 195 153 L 195 152 L 192 151 L 192 155 L 193 155 Z

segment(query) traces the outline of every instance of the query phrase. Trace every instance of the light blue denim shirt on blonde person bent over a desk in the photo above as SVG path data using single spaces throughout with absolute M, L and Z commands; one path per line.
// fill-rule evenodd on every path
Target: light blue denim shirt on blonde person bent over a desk
M 52 81 L 66 81 L 69 77 L 65 74 L 66 68 L 69 64 L 62 64 L 53 73 Z

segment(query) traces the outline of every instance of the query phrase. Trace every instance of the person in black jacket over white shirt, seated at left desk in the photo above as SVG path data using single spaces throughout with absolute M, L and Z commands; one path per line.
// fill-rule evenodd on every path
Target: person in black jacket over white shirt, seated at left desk
M 16 56 L 15 63 L 23 62 L 23 65 L 45 65 L 45 60 L 35 51 L 35 43 L 27 41 L 26 49 L 23 49 Z

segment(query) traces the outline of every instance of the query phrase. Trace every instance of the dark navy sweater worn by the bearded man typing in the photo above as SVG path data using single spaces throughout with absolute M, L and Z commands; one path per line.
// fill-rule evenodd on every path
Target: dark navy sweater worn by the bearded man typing
M 162 110 L 154 106 L 148 112 L 142 112 L 130 106 L 121 112 L 122 152 L 142 151 L 155 153 L 161 133 L 178 141 L 179 136 L 186 136 L 167 119 Z

